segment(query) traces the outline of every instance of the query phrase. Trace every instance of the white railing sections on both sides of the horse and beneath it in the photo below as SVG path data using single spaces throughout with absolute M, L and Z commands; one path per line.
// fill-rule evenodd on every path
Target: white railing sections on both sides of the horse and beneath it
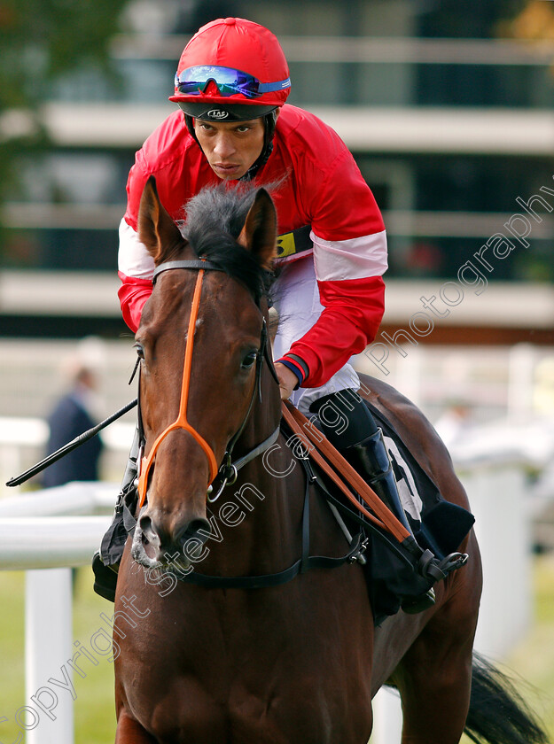
M 485 574 L 476 648 L 493 657 L 505 655 L 530 622 L 523 466 L 521 458 L 500 453 L 458 466 L 477 518 Z M 63 681 L 59 670 L 74 654 L 68 567 L 90 563 L 110 521 L 98 511 L 113 508 L 116 492 L 115 484 L 68 484 L 0 500 L 0 569 L 27 570 L 26 717 L 19 717 L 20 729 L 27 729 L 27 744 L 74 742 L 69 687 L 59 689 L 49 680 Z M 381 691 L 374 709 L 371 744 L 397 744 L 402 727 L 397 697 Z

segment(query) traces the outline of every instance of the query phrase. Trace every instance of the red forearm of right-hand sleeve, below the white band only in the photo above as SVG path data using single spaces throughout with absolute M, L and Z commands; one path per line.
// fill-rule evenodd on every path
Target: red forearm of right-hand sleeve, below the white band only
M 385 310 L 380 276 L 317 284 L 324 311 L 288 352 L 306 362 L 309 374 L 301 386 L 309 388 L 325 384 L 353 354 L 371 344 Z

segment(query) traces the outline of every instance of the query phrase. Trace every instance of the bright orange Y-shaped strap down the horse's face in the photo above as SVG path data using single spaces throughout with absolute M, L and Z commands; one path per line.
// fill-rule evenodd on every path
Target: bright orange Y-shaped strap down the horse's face
M 148 488 L 148 475 L 152 467 L 152 462 L 158 451 L 158 447 L 163 440 L 168 436 L 170 431 L 176 429 L 183 429 L 188 431 L 189 434 L 199 443 L 207 456 L 207 461 L 210 467 L 210 478 L 207 486 L 215 479 L 217 475 L 217 461 L 215 460 L 214 450 L 207 444 L 206 439 L 199 435 L 199 432 L 194 429 L 191 424 L 187 421 L 187 404 L 189 400 L 189 388 L 191 385 L 191 367 L 192 367 L 192 349 L 194 347 L 194 330 L 196 328 L 196 322 L 199 314 L 200 306 L 200 295 L 202 293 L 202 279 L 204 277 L 204 269 L 199 270 L 199 275 L 196 280 L 196 286 L 194 288 L 194 295 L 192 297 L 191 307 L 191 318 L 189 320 L 189 329 L 187 333 L 186 348 L 184 350 L 184 364 L 183 364 L 183 382 L 181 384 L 181 403 L 179 405 L 179 415 L 176 421 L 171 423 L 167 429 L 163 430 L 160 436 L 156 439 L 152 445 L 148 457 L 143 457 L 140 462 L 139 478 L 138 478 L 138 506 L 142 508 L 144 500 L 146 499 L 146 491 Z

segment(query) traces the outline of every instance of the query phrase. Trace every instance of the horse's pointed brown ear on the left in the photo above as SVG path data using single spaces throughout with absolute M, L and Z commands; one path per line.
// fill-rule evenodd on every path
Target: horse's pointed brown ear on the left
M 150 176 L 144 186 L 138 208 L 138 239 L 146 246 L 156 264 L 164 260 L 176 244 L 183 242 L 176 223 L 160 202 L 156 179 Z

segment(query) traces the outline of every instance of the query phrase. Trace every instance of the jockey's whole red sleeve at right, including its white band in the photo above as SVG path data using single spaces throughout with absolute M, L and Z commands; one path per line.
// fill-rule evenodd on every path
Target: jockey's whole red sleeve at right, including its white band
M 385 230 L 381 213 L 344 143 L 328 129 L 321 132 L 321 151 L 334 154 L 334 159 L 324 167 L 321 159 L 303 159 L 298 165 L 303 179 L 315 187 L 307 190 L 313 233 L 337 242 L 332 248 L 339 254 L 326 248 L 324 241 L 314 244 L 324 310 L 284 355 L 285 360 L 294 362 L 289 359 L 292 354 L 305 362 L 308 374 L 300 386 L 307 388 L 325 384 L 350 357 L 363 352 L 374 340 L 385 310 L 381 275 L 386 268 L 386 239 L 381 236 Z

